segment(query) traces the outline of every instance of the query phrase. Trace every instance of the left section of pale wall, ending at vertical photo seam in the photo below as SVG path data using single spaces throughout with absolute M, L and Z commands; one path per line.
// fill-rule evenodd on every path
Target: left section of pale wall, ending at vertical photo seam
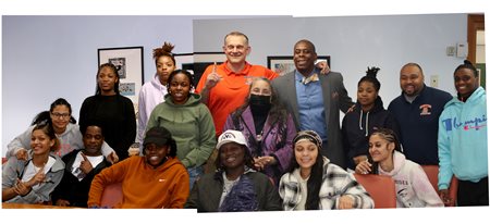
M 2 155 L 34 116 L 65 98 L 78 119 L 95 94 L 97 49 L 144 47 L 145 80 L 155 74 L 151 50 L 163 41 L 193 52 L 193 20 L 238 16 L 2 16 Z M 247 17 L 247 16 L 242 16 Z

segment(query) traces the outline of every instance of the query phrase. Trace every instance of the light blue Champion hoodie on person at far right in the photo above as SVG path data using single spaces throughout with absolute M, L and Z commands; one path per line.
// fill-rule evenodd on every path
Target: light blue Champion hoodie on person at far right
M 439 189 L 454 175 L 479 182 L 488 176 L 487 94 L 478 87 L 462 102 L 454 97 L 439 117 Z

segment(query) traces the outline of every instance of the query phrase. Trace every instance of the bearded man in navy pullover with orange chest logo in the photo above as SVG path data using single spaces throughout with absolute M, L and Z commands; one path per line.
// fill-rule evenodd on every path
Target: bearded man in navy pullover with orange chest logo
M 417 63 L 402 66 L 400 87 L 402 95 L 391 101 L 388 110 L 399 123 L 403 153 L 420 165 L 439 165 L 439 116 L 452 97 L 426 86 L 424 72 Z

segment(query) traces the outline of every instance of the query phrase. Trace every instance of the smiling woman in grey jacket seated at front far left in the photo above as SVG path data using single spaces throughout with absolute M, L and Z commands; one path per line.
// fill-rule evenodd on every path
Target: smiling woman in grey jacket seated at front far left
M 2 202 L 50 203 L 64 170 L 61 158 L 51 153 L 58 147 L 52 126 L 48 122 L 37 124 L 32 132 L 28 160 L 11 157 L 2 165 Z

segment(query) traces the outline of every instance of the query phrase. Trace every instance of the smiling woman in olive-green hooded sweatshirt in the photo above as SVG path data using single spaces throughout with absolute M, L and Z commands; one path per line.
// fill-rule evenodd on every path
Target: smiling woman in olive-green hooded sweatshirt
M 211 113 L 200 102 L 200 96 L 192 92 L 193 83 L 189 72 L 173 71 L 167 82 L 169 94 L 164 102 L 154 109 L 147 124 L 147 129 L 160 126 L 174 134 L 177 158 L 187 169 L 191 188 L 203 175 L 203 164 L 216 145 Z

